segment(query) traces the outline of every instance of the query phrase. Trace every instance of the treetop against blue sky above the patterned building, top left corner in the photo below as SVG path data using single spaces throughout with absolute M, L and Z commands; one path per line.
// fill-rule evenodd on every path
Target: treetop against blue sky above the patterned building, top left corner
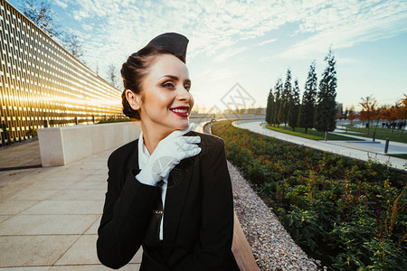
M 33 21 L 43 32 L 51 37 L 58 37 L 61 33 L 58 31 L 58 25 L 54 19 L 54 12 L 48 0 L 23 0 L 21 10 L 28 19 Z

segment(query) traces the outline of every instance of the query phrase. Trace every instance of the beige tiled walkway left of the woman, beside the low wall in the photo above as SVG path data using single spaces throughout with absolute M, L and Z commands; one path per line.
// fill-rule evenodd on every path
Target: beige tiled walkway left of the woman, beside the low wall
M 109 270 L 95 244 L 112 151 L 61 167 L 0 173 L 0 267 Z M 122 270 L 138 270 L 140 253 Z

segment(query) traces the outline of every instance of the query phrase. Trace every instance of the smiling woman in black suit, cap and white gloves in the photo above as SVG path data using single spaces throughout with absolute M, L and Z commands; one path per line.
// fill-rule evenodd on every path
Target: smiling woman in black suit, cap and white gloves
M 142 132 L 109 156 L 97 241 L 105 266 L 125 266 L 142 246 L 140 270 L 239 270 L 223 141 L 188 122 L 187 43 L 161 34 L 123 64 L 123 112 Z

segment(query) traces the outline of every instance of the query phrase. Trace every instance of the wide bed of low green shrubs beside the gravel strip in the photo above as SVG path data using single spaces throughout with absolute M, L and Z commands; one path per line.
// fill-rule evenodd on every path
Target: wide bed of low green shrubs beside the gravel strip
M 406 173 L 231 125 L 212 126 L 227 158 L 292 238 L 340 270 L 407 270 Z

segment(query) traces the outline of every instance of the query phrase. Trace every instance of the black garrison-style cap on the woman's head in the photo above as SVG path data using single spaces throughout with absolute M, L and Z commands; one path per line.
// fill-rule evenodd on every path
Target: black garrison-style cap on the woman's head
M 148 42 L 146 47 L 150 45 L 159 46 L 170 51 L 177 57 L 180 57 L 184 63 L 186 62 L 186 46 L 189 40 L 179 33 L 163 33 L 156 36 L 151 42 Z

